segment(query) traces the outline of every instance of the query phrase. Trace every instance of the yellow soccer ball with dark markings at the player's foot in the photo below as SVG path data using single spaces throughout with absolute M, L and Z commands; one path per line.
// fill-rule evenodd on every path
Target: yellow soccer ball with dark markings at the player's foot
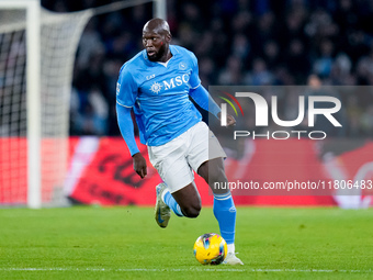
M 202 265 L 219 265 L 227 255 L 227 243 L 215 233 L 201 235 L 194 243 L 193 251 Z

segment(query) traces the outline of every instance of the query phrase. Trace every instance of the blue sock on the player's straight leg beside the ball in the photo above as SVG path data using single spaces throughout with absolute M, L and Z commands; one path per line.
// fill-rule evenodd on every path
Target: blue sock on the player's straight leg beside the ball
M 214 194 L 214 215 L 227 244 L 235 243 L 236 208 L 231 194 Z

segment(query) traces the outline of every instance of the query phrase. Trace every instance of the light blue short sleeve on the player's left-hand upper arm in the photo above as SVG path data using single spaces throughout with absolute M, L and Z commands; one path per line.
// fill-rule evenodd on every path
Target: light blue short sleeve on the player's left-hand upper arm
M 137 98 L 137 85 L 127 67 L 123 67 L 116 82 L 116 102 L 120 105 L 132 108 Z

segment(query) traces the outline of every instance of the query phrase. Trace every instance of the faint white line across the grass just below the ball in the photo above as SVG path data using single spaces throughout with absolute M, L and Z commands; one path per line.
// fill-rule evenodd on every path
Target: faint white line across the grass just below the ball
M 0 268 L 0 271 L 116 271 L 116 272 L 187 272 L 187 271 L 206 271 L 206 272 L 343 272 L 343 273 L 372 273 L 368 270 L 335 270 L 335 269 L 239 269 L 239 268 Z

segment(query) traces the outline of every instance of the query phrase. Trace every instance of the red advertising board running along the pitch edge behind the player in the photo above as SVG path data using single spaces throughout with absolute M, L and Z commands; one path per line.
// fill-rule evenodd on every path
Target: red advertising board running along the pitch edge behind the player
M 13 143 L 10 145 L 10 143 Z M 25 150 L 25 139 L 2 138 L 0 144 L 15 144 Z M 47 145 L 47 141 L 43 142 Z M 373 143 L 319 147 L 308 139 L 246 141 L 242 156 L 226 159 L 229 182 L 256 182 L 259 189 L 233 189 L 237 205 L 340 205 L 359 208 L 368 205 L 373 190 Z M 43 145 L 44 145 L 43 144 Z M 146 146 L 138 143 L 148 164 L 145 179 L 135 173 L 133 160 L 121 137 L 71 137 L 69 139 L 68 170 L 65 193 L 75 202 L 101 205 L 154 205 L 155 187 L 160 182 L 156 169 L 148 160 Z M 348 148 L 347 148 L 348 147 Z M 0 203 L 25 203 L 26 165 L 20 149 L 7 152 L 0 160 Z M 22 155 L 21 155 L 22 154 Z M 349 192 L 348 183 L 364 182 L 366 188 Z M 213 197 L 204 180 L 195 175 L 202 203 L 212 205 Z M 306 183 L 318 189 L 273 191 L 264 183 Z M 338 189 L 329 187 L 338 183 Z M 53 186 L 44 183 L 43 190 L 52 192 Z M 320 190 L 320 186 L 324 189 Z M 287 186 L 289 187 L 289 186 Z M 335 187 L 335 186 L 334 186 Z M 287 188 L 289 189 L 289 188 Z M 343 194 L 343 195 L 337 195 Z M 349 194 L 349 195 L 344 195 Z M 352 195 L 353 194 L 353 195 Z M 44 194 L 43 194 L 44 195 Z M 45 197 L 45 195 L 44 195 Z

